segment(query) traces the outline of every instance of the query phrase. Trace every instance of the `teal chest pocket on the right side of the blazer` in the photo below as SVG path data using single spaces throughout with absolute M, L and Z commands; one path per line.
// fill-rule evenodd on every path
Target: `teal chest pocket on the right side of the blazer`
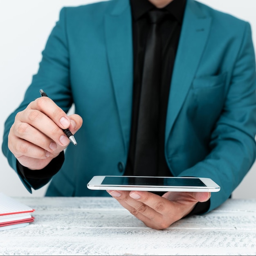
M 218 74 L 217 76 L 200 76 L 193 80 L 192 88 L 194 89 L 207 89 L 224 85 L 227 73 Z

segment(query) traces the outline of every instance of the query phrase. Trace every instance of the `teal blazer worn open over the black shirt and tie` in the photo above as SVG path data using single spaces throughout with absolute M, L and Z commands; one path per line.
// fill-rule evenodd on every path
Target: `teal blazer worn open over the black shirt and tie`
M 123 175 L 132 110 L 132 20 L 128 0 L 61 9 L 38 73 L 5 123 L 7 147 L 16 113 L 43 88 L 67 112 L 83 118 L 77 146 L 65 151 L 46 195 L 103 196 L 86 184 L 93 175 Z M 175 176 L 210 177 L 221 186 L 209 211 L 243 180 L 256 157 L 256 74 L 248 22 L 187 0 L 165 130 L 165 157 Z M 18 173 L 20 175 L 20 173 Z M 49 179 L 20 179 L 31 191 Z

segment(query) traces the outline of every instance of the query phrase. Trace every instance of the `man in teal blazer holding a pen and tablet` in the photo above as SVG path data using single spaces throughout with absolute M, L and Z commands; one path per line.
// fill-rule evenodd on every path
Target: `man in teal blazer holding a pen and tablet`
M 155 144 L 142 149 L 152 150 L 144 159 L 137 152 L 145 141 L 137 139 L 148 134 L 140 128 L 147 113 L 140 111 L 147 99 L 144 70 L 153 63 L 144 61 L 151 10 L 167 16 L 155 37 L 162 39 L 159 90 L 146 95 L 149 106 L 155 94 L 160 101 L 150 111 L 159 108 L 150 123 L 154 132 L 145 140 Z M 154 69 L 146 77 L 151 72 L 155 79 Z M 49 98 L 39 97 L 41 88 Z M 255 89 L 247 22 L 193 0 L 112 0 L 63 8 L 38 74 L 5 123 L 2 148 L 29 191 L 52 179 L 47 196 L 106 195 L 86 188 L 93 175 L 210 177 L 220 185 L 212 195 L 108 191 L 145 225 L 164 229 L 218 207 L 254 163 Z M 68 117 L 72 103 L 75 114 Z M 65 128 L 75 134 L 77 146 L 68 146 Z

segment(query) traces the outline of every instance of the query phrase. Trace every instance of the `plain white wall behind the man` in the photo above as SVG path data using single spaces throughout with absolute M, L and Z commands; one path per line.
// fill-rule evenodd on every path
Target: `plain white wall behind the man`
M 18 106 L 31 76 L 38 70 L 47 37 L 63 6 L 97 0 L 1 0 L 0 1 L 0 144 L 4 121 Z M 256 48 L 256 0 L 200 0 L 250 22 Z M 220 38 L 221 39 L 221 38 Z M 256 165 L 234 191 L 234 198 L 256 198 Z M 9 196 L 43 196 L 47 186 L 30 194 L 0 152 L 0 192 Z

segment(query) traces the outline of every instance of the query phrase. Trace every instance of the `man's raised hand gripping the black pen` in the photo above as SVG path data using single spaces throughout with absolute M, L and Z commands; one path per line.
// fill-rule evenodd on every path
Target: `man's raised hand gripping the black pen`
M 40 97 L 17 113 L 8 135 L 8 147 L 20 164 L 40 170 L 63 151 L 70 140 L 62 129 L 73 134 L 81 128 L 79 115 L 67 116 L 52 99 Z

